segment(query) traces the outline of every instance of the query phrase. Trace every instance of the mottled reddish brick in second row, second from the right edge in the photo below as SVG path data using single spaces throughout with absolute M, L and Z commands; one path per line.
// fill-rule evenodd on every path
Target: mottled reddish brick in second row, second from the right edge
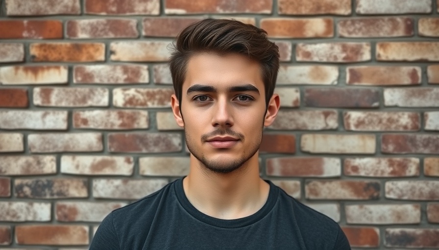
M 337 24 L 340 37 L 411 37 L 413 19 L 403 17 L 358 18 Z

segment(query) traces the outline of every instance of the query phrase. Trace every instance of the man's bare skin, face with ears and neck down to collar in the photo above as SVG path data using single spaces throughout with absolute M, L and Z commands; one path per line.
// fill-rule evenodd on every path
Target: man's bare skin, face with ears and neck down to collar
M 171 97 L 191 152 L 190 173 L 183 180 L 186 196 L 213 217 L 251 215 L 268 197 L 269 186 L 259 177 L 258 149 L 263 127 L 276 117 L 279 96 L 266 104 L 259 63 L 238 54 L 197 54 L 186 73 L 181 106 Z

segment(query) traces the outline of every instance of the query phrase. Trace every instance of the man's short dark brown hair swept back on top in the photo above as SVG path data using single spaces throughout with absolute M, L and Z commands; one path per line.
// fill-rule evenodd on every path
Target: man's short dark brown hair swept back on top
M 169 67 L 175 95 L 181 104 L 189 59 L 199 53 L 238 53 L 259 62 L 266 104 L 274 92 L 279 70 L 279 48 L 267 32 L 236 20 L 205 19 L 183 29 L 173 43 Z

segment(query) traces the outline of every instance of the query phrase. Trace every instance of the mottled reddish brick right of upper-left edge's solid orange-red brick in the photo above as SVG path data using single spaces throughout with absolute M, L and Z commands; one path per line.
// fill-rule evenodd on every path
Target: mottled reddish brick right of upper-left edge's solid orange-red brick
M 137 38 L 137 20 L 81 19 L 67 21 L 67 37 L 71 39 Z

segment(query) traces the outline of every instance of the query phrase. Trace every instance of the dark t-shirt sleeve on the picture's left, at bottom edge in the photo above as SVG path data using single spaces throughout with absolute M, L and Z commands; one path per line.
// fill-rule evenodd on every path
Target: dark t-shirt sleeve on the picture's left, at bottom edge
M 120 250 L 112 213 L 100 223 L 89 250 Z

